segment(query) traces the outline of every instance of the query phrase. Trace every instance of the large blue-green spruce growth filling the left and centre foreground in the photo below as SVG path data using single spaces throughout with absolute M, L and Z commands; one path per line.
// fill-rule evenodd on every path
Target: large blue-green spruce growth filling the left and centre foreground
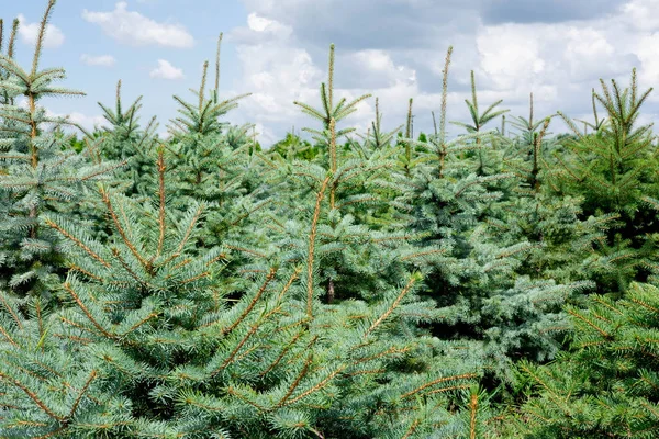
M 152 203 L 99 188 L 108 243 L 45 219 L 71 248 L 67 306 L 25 318 L 0 296 L 2 437 L 487 437 L 478 371 L 410 338 L 428 313 L 417 275 L 375 305 L 323 305 L 315 215 L 305 262 L 271 261 L 234 302 L 226 254 L 194 249 L 206 206 L 172 214 L 163 149 L 157 170 Z

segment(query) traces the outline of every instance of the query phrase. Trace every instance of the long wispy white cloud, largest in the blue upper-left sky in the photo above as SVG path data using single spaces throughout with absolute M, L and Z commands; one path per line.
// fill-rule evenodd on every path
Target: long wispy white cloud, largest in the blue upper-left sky
M 112 12 L 82 11 L 82 19 L 98 24 L 110 37 L 132 46 L 158 45 L 164 47 L 188 48 L 194 38 L 180 24 L 158 23 L 138 12 L 127 10 L 127 3 L 120 1 Z

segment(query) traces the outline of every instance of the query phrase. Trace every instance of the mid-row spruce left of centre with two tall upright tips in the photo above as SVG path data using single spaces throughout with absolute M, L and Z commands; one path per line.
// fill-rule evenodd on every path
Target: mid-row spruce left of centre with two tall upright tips
M 174 97 L 180 106 L 180 115 L 169 126 L 171 142 L 167 150 L 175 170 L 172 187 L 176 202 L 181 207 L 193 200 L 212 204 L 200 246 L 213 247 L 239 240 L 241 244 L 235 247 L 243 248 L 248 238 L 231 233 L 242 230 L 235 226 L 246 226 L 245 223 L 254 219 L 257 211 L 267 206 L 269 200 L 263 183 L 273 169 L 270 160 L 249 138 L 252 125 L 231 126 L 222 121 L 248 94 L 220 100 L 221 41 L 222 35 L 217 43 L 214 89 L 206 94 L 206 61 L 200 88 L 192 90 L 196 102 Z M 263 237 L 257 238 L 255 233 L 252 235 L 256 241 L 263 243 Z

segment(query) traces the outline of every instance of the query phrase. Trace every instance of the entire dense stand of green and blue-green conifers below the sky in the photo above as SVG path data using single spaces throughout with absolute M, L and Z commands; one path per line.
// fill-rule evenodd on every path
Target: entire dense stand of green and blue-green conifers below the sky
M 309 138 L 261 149 L 225 121 L 244 97 L 220 97 L 220 36 L 167 139 L 121 82 L 88 133 L 42 106 L 81 94 L 40 66 L 54 5 L 29 69 L 18 21 L 0 54 L 0 437 L 659 435 L 635 71 L 593 90 L 594 122 L 535 120 L 533 94 L 528 116 L 482 110 L 472 74 L 448 138 L 449 48 L 415 139 L 412 100 L 391 131 L 377 99 L 347 126 L 371 97 L 336 99 L 332 46 L 321 108 L 294 103 Z

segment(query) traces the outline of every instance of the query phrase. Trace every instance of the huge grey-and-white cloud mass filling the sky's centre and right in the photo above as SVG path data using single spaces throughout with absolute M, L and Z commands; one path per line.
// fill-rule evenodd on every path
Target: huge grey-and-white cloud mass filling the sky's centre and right
M 524 116 L 532 92 L 537 116 L 561 110 L 590 120 L 600 78 L 627 86 L 637 67 L 640 90 L 659 81 L 659 0 L 350 0 L 340 8 L 336 0 L 242 1 L 248 18 L 228 36 L 244 75 L 236 91 L 254 94 L 236 113 L 261 122 L 264 139 L 291 125 L 317 126 L 292 101 L 320 104 L 332 42 L 335 94 L 379 97 L 391 128 L 404 123 L 414 98 L 416 133 L 431 131 L 431 111 L 439 110 L 449 45 L 451 121 L 469 117 L 470 70 L 483 109 L 503 99 L 502 109 Z M 641 111 L 659 113 L 657 102 L 659 93 L 651 94 Z M 370 100 L 343 126 L 366 126 L 372 117 Z

